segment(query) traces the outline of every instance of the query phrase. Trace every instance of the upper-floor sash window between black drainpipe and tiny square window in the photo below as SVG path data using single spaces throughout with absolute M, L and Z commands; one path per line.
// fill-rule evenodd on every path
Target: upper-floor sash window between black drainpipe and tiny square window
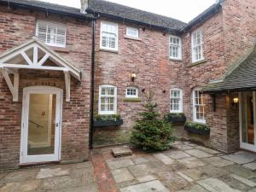
M 118 24 L 102 21 L 101 49 L 118 50 Z

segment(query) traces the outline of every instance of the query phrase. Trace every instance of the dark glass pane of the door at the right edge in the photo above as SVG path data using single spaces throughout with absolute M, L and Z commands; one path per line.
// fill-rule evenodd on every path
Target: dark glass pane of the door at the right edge
M 243 92 L 241 96 L 241 142 L 254 144 L 253 92 Z

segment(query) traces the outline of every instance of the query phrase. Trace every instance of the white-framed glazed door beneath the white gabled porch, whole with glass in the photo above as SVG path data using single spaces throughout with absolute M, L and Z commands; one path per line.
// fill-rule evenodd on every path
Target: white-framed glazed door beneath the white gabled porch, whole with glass
M 49 86 L 23 91 L 20 164 L 61 160 L 62 90 Z

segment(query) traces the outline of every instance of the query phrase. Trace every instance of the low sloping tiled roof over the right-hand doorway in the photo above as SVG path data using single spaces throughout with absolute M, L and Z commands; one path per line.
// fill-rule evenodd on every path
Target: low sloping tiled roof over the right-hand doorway
M 203 91 L 216 95 L 220 92 L 256 90 L 256 45 L 247 57 L 233 66 L 234 69 L 224 79 L 207 84 Z

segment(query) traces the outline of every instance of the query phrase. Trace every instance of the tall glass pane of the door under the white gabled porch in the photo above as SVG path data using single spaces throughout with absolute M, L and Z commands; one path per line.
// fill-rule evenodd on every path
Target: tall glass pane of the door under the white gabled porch
M 31 94 L 27 155 L 55 154 L 55 94 Z

